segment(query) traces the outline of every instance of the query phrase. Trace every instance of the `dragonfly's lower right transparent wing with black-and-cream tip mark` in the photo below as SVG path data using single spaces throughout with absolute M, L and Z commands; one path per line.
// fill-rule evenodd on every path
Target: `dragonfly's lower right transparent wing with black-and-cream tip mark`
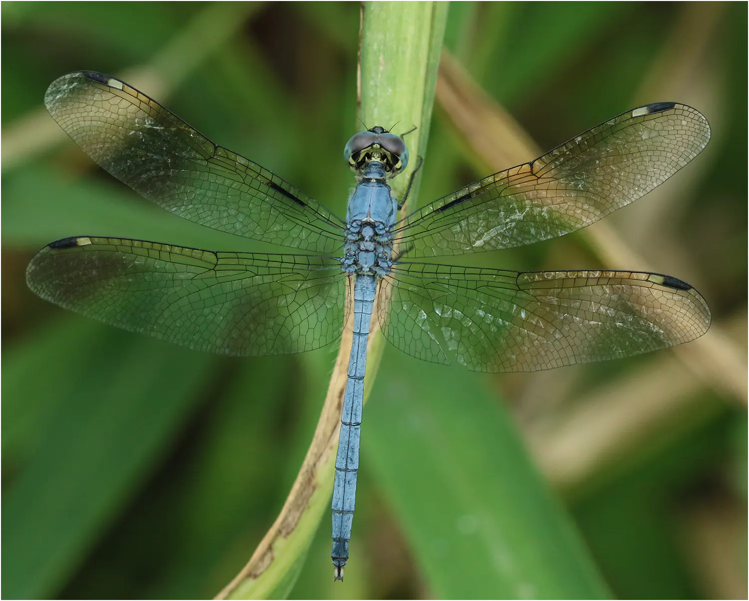
M 512 272 L 396 263 L 380 284 L 385 337 L 417 359 L 534 371 L 673 347 L 707 332 L 700 293 L 668 275 Z

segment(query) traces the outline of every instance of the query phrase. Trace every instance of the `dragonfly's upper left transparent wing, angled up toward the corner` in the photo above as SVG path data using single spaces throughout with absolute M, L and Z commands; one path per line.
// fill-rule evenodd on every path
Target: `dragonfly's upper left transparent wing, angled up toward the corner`
M 170 213 L 291 248 L 342 246 L 344 224 L 325 207 L 124 82 L 70 73 L 52 82 L 44 103 L 88 156 Z

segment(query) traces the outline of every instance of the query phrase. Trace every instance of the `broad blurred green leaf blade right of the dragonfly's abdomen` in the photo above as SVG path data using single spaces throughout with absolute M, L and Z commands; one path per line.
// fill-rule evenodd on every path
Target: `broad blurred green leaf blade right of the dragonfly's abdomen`
M 482 376 L 395 352 L 383 373 L 366 412 L 365 469 L 434 597 L 610 597 Z

